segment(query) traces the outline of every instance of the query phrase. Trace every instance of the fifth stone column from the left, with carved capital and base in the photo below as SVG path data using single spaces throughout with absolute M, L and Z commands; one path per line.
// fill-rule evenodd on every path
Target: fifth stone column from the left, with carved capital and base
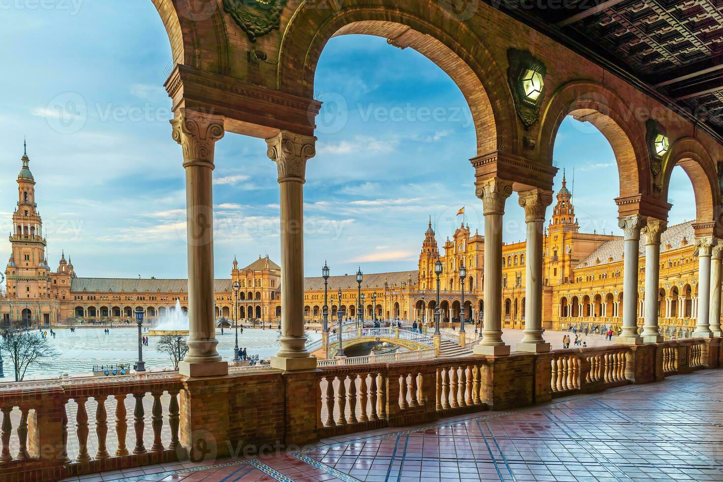
M 643 339 L 638 335 L 638 255 L 641 215 L 618 218 L 617 225 L 625 234 L 625 262 L 623 263 L 623 332 L 618 341 L 628 345 L 641 345 Z

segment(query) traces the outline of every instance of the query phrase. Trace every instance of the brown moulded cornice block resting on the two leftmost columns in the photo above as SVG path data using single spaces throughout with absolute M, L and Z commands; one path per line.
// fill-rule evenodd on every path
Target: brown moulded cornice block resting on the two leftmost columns
M 313 135 L 321 103 L 281 90 L 212 74 L 186 65 L 176 68 L 164 84 L 173 100 L 173 110 L 224 116 L 226 130 L 268 139 L 279 130 Z

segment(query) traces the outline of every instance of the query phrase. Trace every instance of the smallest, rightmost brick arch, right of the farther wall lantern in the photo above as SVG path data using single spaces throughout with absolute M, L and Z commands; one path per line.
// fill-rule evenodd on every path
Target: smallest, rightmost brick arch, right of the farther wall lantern
M 716 207 L 721 204 L 716 163 L 708 150 L 693 137 L 683 137 L 673 142 L 665 161 L 662 174 L 662 200 L 667 202 L 670 176 L 673 168 L 680 165 L 693 184 L 696 197 L 696 223 L 711 223 L 715 220 Z

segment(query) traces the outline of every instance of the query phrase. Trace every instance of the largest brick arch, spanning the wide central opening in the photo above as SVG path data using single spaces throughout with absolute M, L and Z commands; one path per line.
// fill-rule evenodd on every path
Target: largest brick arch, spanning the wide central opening
M 484 48 L 482 38 L 464 22 L 437 6 L 419 9 L 416 1 L 367 5 L 347 1 L 338 11 L 302 4 L 283 35 L 278 62 L 278 88 L 309 98 L 323 48 L 337 35 L 385 37 L 391 45 L 419 51 L 445 71 L 469 104 L 477 152 L 517 152 L 519 124 L 502 69 Z M 411 12 L 415 12 L 412 14 Z

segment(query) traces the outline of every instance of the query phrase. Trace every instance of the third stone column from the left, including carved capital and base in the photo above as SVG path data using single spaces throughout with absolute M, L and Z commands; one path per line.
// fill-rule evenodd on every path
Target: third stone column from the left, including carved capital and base
M 509 355 L 502 341 L 502 216 L 505 201 L 512 194 L 512 182 L 489 178 L 476 183 L 476 196 L 484 211 L 484 330 L 477 355 Z

